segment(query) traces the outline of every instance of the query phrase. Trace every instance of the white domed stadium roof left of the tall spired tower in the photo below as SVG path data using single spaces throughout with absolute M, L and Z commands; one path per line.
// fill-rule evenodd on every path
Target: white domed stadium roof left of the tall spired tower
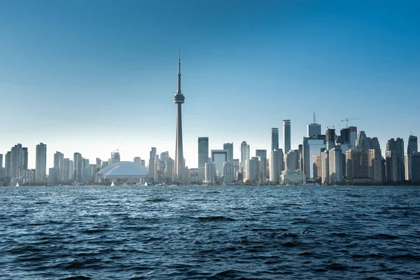
M 135 162 L 116 162 L 99 170 L 97 175 L 102 176 L 103 178 L 110 176 L 144 177 L 148 175 L 148 168 Z

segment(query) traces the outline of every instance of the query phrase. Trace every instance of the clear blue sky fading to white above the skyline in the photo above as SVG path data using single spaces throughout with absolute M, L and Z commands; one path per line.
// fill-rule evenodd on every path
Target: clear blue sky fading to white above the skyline
M 184 150 L 247 141 L 269 149 L 290 119 L 292 147 L 316 112 L 378 137 L 420 134 L 418 1 L 1 1 L 0 153 L 174 157 L 181 48 Z M 283 137 L 280 134 L 280 140 Z

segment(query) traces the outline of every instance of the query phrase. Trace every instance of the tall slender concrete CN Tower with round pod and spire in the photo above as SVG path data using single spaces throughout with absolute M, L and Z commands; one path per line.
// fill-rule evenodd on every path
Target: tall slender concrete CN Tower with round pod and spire
M 178 90 L 174 95 L 174 103 L 178 106 L 176 112 L 176 148 L 175 148 L 175 167 L 174 167 L 174 181 L 183 183 L 184 181 L 184 161 L 182 148 L 182 116 L 181 104 L 186 98 L 181 92 L 181 51 L 178 52 Z

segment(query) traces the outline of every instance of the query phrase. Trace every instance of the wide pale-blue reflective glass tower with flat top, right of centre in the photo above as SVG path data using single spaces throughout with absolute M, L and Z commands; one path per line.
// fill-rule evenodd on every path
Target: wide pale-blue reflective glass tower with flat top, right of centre
M 316 181 L 316 174 L 314 174 L 313 168 L 314 155 L 321 155 L 321 149 L 325 148 L 325 141 L 323 139 L 303 137 L 302 148 L 303 173 L 305 174 L 307 181 Z

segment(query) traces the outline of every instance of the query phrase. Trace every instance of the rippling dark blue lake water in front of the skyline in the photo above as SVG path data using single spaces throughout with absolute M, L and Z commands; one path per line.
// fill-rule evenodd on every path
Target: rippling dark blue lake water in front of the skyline
M 0 188 L 1 279 L 420 279 L 419 264 L 418 187 Z

